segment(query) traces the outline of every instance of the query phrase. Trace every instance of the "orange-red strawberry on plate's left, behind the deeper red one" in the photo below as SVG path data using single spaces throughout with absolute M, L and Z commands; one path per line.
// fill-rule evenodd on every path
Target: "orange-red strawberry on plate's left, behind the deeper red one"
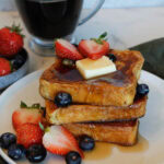
M 12 114 L 12 125 L 15 130 L 23 124 L 31 122 L 38 125 L 39 121 L 42 121 L 42 113 L 39 109 L 22 108 Z

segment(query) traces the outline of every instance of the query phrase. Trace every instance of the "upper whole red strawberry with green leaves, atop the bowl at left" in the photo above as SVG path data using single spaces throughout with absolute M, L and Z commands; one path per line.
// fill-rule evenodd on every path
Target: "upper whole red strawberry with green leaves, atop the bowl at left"
M 20 26 L 3 27 L 0 30 L 0 55 L 12 57 L 23 47 L 23 36 L 20 34 Z

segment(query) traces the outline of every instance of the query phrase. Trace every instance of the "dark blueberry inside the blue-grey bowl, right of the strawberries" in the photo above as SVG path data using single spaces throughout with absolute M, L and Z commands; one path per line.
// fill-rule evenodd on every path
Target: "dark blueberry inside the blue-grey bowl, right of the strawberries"
M 12 60 L 13 69 L 17 70 L 19 68 L 21 68 L 26 61 L 26 58 L 27 58 L 27 54 L 25 49 L 22 49 Z

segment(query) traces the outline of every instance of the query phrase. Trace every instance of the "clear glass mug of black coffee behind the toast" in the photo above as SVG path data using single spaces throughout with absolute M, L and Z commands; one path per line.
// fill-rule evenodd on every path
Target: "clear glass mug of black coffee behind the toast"
M 84 0 L 15 0 L 22 20 L 32 35 L 31 49 L 40 56 L 54 55 L 54 39 L 71 43 L 78 25 L 91 19 L 105 0 L 96 0 L 89 15 L 80 20 Z

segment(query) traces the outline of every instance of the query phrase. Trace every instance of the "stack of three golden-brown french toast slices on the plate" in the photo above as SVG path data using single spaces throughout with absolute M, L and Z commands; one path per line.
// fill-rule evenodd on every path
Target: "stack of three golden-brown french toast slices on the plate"
M 117 70 L 92 79 L 84 79 L 77 67 L 67 67 L 56 58 L 39 80 L 46 120 L 62 125 L 77 138 L 86 134 L 95 141 L 133 145 L 148 99 L 137 94 L 144 59 L 132 50 L 110 49 L 108 54 L 116 57 Z M 59 93 L 71 95 L 72 103 L 57 106 Z

